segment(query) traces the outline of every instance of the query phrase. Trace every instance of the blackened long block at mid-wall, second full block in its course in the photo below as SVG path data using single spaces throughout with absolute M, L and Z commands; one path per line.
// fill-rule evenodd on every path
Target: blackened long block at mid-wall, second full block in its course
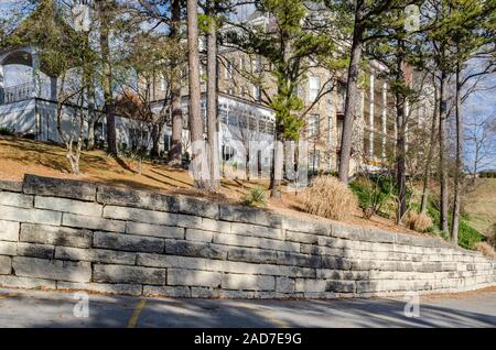
M 163 252 L 164 240 L 152 237 L 95 232 L 93 245 L 128 252 L 161 253 Z

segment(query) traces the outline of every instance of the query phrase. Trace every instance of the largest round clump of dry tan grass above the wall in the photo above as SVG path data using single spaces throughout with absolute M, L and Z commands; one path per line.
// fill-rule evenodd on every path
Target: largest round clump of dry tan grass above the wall
M 357 207 L 353 192 L 331 176 L 315 177 L 301 197 L 303 211 L 333 220 L 345 219 Z

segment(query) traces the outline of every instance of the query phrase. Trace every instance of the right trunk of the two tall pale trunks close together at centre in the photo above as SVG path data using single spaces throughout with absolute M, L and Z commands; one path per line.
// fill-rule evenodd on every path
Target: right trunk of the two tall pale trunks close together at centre
M 219 187 L 220 174 L 218 163 L 218 121 L 217 121 L 217 25 L 215 18 L 215 1 L 208 1 L 208 34 L 207 34 L 207 138 L 208 160 L 211 171 L 211 189 Z

